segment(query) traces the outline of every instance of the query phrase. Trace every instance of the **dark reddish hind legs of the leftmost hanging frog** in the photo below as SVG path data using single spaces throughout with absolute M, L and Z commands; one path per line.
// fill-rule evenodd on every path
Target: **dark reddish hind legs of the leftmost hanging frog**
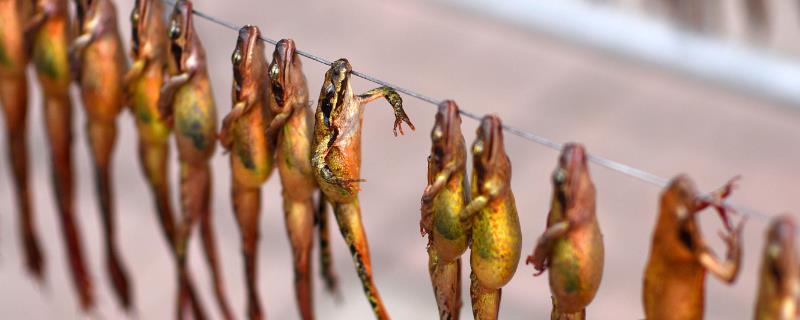
M 24 75 L 0 81 L 0 105 L 5 111 L 8 157 L 19 207 L 19 230 L 25 252 L 25 268 L 38 281 L 44 281 L 45 260 L 39 245 L 28 183 L 28 83 Z

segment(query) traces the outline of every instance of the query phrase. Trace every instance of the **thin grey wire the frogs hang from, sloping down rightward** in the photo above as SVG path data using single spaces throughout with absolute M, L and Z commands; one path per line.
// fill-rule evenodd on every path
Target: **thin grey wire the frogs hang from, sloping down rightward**
M 162 1 L 164 3 L 167 3 L 167 4 L 171 5 L 171 6 L 175 5 L 175 1 L 174 0 L 162 0 Z M 228 29 L 230 29 L 232 31 L 238 32 L 239 29 L 241 29 L 241 26 L 239 26 L 237 24 L 234 24 L 234 23 L 231 23 L 231 22 L 227 22 L 225 20 L 213 17 L 211 15 L 208 15 L 208 14 L 206 14 L 206 13 L 204 13 L 202 11 L 199 11 L 197 9 L 194 9 L 194 8 L 192 8 L 192 13 L 194 13 L 194 15 L 196 15 L 196 16 L 198 16 L 200 18 L 208 20 L 211 23 L 214 23 L 214 24 L 217 24 L 219 26 L 228 28 Z M 275 45 L 275 44 L 278 43 L 274 39 L 271 39 L 269 37 L 265 37 L 263 35 L 260 37 L 260 39 L 262 41 L 264 41 L 266 43 L 269 43 L 269 44 L 272 44 L 272 45 Z M 297 49 L 297 50 L 295 50 L 295 52 L 297 52 L 297 54 L 299 54 L 299 55 L 301 55 L 303 57 L 309 58 L 311 60 L 314 60 L 316 62 L 319 62 L 319 63 L 327 65 L 327 66 L 330 66 L 332 64 L 332 62 L 330 60 L 325 59 L 325 58 L 320 57 L 320 56 L 317 56 L 317 55 L 315 55 L 313 53 L 310 53 L 310 52 L 307 52 L 307 51 L 303 51 L 303 50 Z M 362 73 L 362 72 L 359 72 L 359 71 L 356 71 L 356 70 L 352 70 L 351 73 L 353 75 L 361 78 L 361 79 L 364 79 L 364 80 L 367 80 L 369 82 L 373 82 L 375 84 L 379 84 L 379 85 L 382 85 L 382 86 L 390 87 L 390 88 L 394 89 L 397 92 L 404 93 L 404 94 L 406 94 L 408 96 L 417 98 L 419 100 L 428 102 L 428 103 L 433 104 L 433 105 L 438 105 L 442 101 L 442 100 L 435 99 L 435 98 L 426 96 L 424 94 L 421 94 L 421 93 L 418 93 L 418 92 L 415 92 L 415 91 L 400 87 L 398 85 L 383 81 L 381 79 L 378 79 L 378 78 L 376 78 L 374 76 L 371 76 L 369 74 L 366 74 L 366 73 Z M 460 109 L 460 108 L 459 108 L 459 113 L 461 113 L 461 115 L 463 115 L 463 116 L 465 116 L 467 118 L 470 118 L 470 119 L 473 119 L 473 120 L 476 120 L 476 121 L 480 121 L 481 118 L 482 118 L 482 116 L 480 116 L 480 115 L 478 115 L 476 113 L 473 113 L 473 112 L 470 112 L 470 111 L 466 111 L 466 110 Z M 553 149 L 555 151 L 561 151 L 561 149 L 564 147 L 564 145 L 562 143 L 555 142 L 553 140 L 550 140 L 548 138 L 545 138 L 545 137 L 540 136 L 538 134 L 535 134 L 533 132 L 526 131 L 526 130 L 523 130 L 523 129 L 520 129 L 520 128 L 517 128 L 517 127 L 512 127 L 512 126 L 509 126 L 507 124 L 503 124 L 503 129 L 505 131 L 515 135 L 515 136 L 518 136 L 518 137 L 523 138 L 525 140 L 532 141 L 532 142 L 534 142 L 536 144 L 539 144 L 539 145 L 542 145 L 544 147 Z M 665 188 L 669 184 L 669 180 L 664 178 L 664 177 L 661 177 L 659 175 L 656 175 L 656 174 L 653 174 L 653 173 L 650 173 L 650 172 L 647 172 L 647 171 L 644 171 L 644 170 L 641 170 L 641 169 L 638 169 L 638 168 L 635 168 L 635 167 L 632 167 L 632 166 L 629 166 L 629 165 L 626 165 L 626 164 L 623 164 L 623 163 L 620 163 L 620 162 L 605 158 L 605 157 L 601 157 L 601 156 L 594 155 L 594 154 L 587 154 L 587 160 L 589 160 L 590 162 L 592 162 L 594 164 L 597 164 L 599 166 L 602 166 L 602 167 L 605 167 L 607 169 L 610 169 L 612 171 L 616 171 L 616 172 L 622 173 L 624 175 L 627 175 L 629 177 L 636 178 L 636 179 L 638 179 L 640 181 L 655 185 L 655 186 L 657 186 L 659 188 Z M 708 194 L 704 195 L 704 197 L 709 197 L 709 196 L 710 195 L 708 195 Z M 768 220 L 770 220 L 772 218 L 768 214 L 762 213 L 762 212 L 760 212 L 758 210 L 755 210 L 755 209 L 752 209 L 752 208 L 749 208 L 749 207 L 745 207 L 745 206 L 741 206 L 741 205 L 733 205 L 733 204 L 730 204 L 730 203 L 726 203 L 726 204 L 729 207 L 733 208 L 736 212 L 738 212 L 740 214 L 743 214 L 745 216 L 755 217 L 755 218 L 758 218 L 758 219 L 764 220 L 764 221 L 768 221 Z

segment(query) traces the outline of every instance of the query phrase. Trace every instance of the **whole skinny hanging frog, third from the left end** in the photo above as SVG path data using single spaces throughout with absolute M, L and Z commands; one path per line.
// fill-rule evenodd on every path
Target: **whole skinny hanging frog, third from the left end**
M 133 307 L 130 276 L 117 250 L 111 157 L 117 140 L 117 115 L 124 105 L 123 76 L 128 71 L 125 49 L 111 0 L 76 0 L 83 17 L 81 34 L 70 48 L 86 110 L 86 135 L 92 154 L 95 188 L 103 225 L 105 267 L 117 299 Z

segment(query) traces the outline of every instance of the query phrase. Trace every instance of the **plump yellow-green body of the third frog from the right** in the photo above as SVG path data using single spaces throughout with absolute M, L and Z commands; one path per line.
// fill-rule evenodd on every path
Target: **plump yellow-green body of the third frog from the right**
M 548 274 L 560 311 L 580 312 L 594 299 L 603 275 L 603 250 L 596 218 L 555 241 Z

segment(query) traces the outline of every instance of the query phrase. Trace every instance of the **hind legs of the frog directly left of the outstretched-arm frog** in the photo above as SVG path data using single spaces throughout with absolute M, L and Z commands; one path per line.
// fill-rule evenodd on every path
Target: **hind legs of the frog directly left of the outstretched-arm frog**
M 294 288 L 301 318 L 314 319 L 311 286 L 311 247 L 314 239 L 314 203 L 311 197 L 294 200 L 285 194 L 284 221 L 294 260 Z

